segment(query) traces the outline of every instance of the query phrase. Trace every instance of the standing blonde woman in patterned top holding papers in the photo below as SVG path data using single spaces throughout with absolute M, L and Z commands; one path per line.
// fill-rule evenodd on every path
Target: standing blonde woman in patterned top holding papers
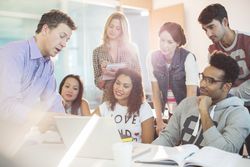
M 103 43 L 93 51 L 95 85 L 104 91 L 103 101 L 109 97 L 108 89 L 119 68 L 110 69 L 107 65 L 117 63 L 140 73 L 138 52 L 130 41 L 127 18 L 119 12 L 109 16 L 104 28 Z M 104 75 L 111 77 L 107 79 Z

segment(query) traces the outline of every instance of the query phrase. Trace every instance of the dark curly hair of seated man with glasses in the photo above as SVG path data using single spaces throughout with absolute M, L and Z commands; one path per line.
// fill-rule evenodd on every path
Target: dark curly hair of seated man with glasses
M 224 81 L 234 84 L 240 73 L 240 67 L 238 63 L 230 56 L 224 53 L 217 52 L 211 56 L 210 65 L 220 70 L 223 70 Z

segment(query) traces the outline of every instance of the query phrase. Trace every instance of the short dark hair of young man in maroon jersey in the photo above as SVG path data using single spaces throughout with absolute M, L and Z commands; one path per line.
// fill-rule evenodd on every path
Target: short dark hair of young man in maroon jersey
M 213 19 L 215 19 L 222 23 L 222 20 L 224 18 L 228 19 L 225 7 L 221 4 L 216 3 L 204 8 L 198 17 L 198 21 L 201 24 L 208 24 L 212 22 Z

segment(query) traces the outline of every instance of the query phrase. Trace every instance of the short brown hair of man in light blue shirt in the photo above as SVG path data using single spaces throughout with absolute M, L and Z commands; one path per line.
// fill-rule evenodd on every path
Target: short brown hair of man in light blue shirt
M 59 24 L 68 25 L 71 30 L 76 30 L 76 25 L 73 20 L 60 10 L 53 9 L 48 13 L 44 13 L 37 25 L 36 33 L 40 33 L 43 25 L 47 24 L 50 29 L 56 28 Z

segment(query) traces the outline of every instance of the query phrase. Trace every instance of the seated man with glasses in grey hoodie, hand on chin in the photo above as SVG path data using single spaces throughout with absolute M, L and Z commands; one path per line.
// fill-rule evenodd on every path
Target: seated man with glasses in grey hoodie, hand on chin
M 238 153 L 250 132 L 250 115 L 243 102 L 229 94 L 239 74 L 237 62 L 215 53 L 200 74 L 200 96 L 184 99 L 166 129 L 153 144 L 195 144 Z

